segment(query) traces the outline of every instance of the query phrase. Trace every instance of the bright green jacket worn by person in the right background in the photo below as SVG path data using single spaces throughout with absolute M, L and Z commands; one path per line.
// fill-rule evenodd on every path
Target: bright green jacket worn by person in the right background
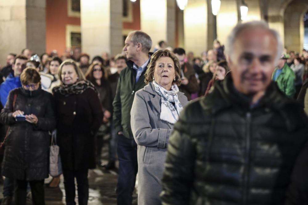
M 272 75 L 272 80 L 274 79 L 275 73 L 278 70 L 278 68 L 276 68 L 273 72 Z M 282 68 L 282 72 L 280 73 L 280 75 L 278 76 L 278 78 L 276 79 L 276 83 L 279 87 L 279 89 L 281 89 L 281 91 L 283 93 L 286 94 L 286 96 L 293 98 L 294 94 L 296 93 L 295 90 L 295 74 L 293 72 L 293 70 L 287 65 L 285 64 Z

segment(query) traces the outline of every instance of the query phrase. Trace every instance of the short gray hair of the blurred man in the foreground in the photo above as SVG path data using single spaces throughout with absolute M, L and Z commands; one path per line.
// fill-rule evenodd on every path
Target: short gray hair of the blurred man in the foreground
M 231 31 L 231 34 L 228 36 L 227 45 L 225 49 L 225 53 L 233 60 L 233 53 L 234 53 L 234 43 L 237 38 L 237 35 L 245 29 L 248 28 L 260 28 L 269 31 L 276 39 L 277 41 L 277 54 L 275 57 L 275 65 L 278 63 L 278 60 L 281 57 L 282 51 L 283 51 L 283 44 L 282 40 L 280 38 L 279 33 L 274 30 L 270 29 L 268 24 L 265 21 L 251 21 L 243 24 L 237 24 L 237 26 L 234 27 L 234 29 Z

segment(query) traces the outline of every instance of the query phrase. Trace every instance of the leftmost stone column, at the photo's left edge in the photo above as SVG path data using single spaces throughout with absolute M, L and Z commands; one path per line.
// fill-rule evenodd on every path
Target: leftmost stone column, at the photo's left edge
M 46 2 L 41 0 L 0 1 L 0 64 L 8 53 L 24 48 L 34 53 L 46 50 Z

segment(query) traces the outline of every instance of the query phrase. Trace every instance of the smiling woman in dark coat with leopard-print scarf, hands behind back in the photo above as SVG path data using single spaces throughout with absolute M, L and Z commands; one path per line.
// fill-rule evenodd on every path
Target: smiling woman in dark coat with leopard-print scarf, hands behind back
M 57 143 L 60 147 L 66 203 L 75 204 L 75 178 L 79 205 L 89 197 L 88 169 L 95 168 L 95 133 L 103 121 L 102 106 L 92 83 L 74 60 L 62 62 L 61 85 L 54 93 Z

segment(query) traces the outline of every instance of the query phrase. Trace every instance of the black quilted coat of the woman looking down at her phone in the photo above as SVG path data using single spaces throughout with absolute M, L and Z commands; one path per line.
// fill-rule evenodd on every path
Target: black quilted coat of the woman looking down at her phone
M 14 92 L 17 90 L 13 110 Z M 15 121 L 12 113 L 21 110 L 25 115 L 38 117 L 36 125 Z M 41 180 L 48 177 L 50 135 L 55 128 L 55 112 L 52 95 L 39 88 L 30 92 L 13 89 L 0 113 L 0 121 L 10 125 L 2 162 L 2 174 L 12 179 Z

